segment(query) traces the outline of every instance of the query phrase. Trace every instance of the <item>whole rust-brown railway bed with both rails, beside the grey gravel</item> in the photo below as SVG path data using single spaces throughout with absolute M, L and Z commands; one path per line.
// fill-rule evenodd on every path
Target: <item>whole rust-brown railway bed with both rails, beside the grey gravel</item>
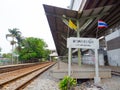
M 0 90 L 22 90 L 32 80 L 54 64 L 54 62 L 43 63 L 33 67 L 0 74 Z

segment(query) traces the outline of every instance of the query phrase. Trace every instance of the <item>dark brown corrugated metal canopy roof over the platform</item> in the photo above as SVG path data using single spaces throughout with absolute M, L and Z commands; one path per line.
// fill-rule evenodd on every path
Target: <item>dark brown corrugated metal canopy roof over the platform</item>
M 92 3 L 92 1 L 94 3 Z M 75 19 L 79 20 L 80 27 L 84 27 L 80 36 L 95 37 L 97 29 L 98 16 L 100 19 L 108 23 L 109 28 L 120 22 L 120 1 L 119 0 L 87 0 L 83 12 L 78 14 L 77 11 L 63 9 L 54 6 L 44 5 L 45 13 L 49 22 L 52 36 L 58 55 L 62 56 L 67 53 L 66 39 L 70 36 L 76 36 L 76 31 L 69 30 L 63 23 L 62 18 L 65 15 L 75 23 Z M 109 14 L 108 14 L 109 13 Z M 91 19 L 92 18 L 92 19 Z M 101 36 L 107 29 L 99 30 L 98 35 Z

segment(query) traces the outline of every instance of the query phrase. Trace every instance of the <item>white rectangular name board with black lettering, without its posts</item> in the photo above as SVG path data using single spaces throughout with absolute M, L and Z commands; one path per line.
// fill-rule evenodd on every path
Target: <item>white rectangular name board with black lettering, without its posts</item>
M 67 48 L 99 49 L 99 41 L 96 38 L 67 38 Z

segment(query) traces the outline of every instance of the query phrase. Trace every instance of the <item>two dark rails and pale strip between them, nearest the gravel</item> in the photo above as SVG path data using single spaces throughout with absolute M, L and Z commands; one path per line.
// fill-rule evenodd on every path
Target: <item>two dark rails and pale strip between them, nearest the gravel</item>
M 26 87 L 33 79 L 39 76 L 41 73 L 46 71 L 48 68 L 53 66 L 55 63 L 51 62 L 48 64 L 42 64 L 41 67 L 38 66 L 37 69 L 31 70 L 30 72 L 23 74 L 21 76 L 12 78 L 8 81 L 0 83 L 0 89 L 2 90 L 22 90 Z

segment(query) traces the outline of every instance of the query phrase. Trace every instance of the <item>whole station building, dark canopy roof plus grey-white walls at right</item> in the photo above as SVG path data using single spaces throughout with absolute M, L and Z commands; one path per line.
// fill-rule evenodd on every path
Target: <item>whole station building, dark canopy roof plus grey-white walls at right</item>
M 68 9 L 44 5 L 58 56 L 68 54 L 68 37 L 88 37 L 99 39 L 99 65 L 120 66 L 120 1 L 119 0 L 71 0 Z M 66 20 L 64 20 L 64 18 Z M 77 26 L 77 31 L 68 27 L 69 20 Z M 108 24 L 97 29 L 98 20 Z M 74 61 L 77 50 L 72 49 Z M 74 54 L 75 53 L 75 54 Z M 81 49 L 82 63 L 94 64 L 94 50 Z

